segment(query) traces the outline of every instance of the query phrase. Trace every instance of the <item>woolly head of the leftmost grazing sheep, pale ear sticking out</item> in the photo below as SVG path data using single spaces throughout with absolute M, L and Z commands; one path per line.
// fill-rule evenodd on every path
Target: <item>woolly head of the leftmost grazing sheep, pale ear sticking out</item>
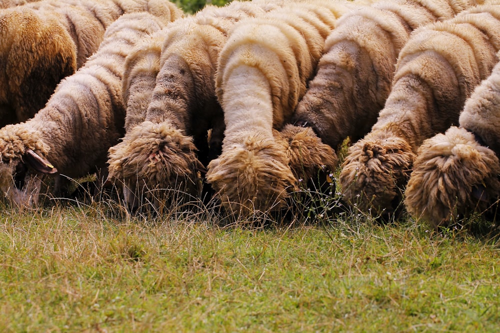
M 0 132 L 0 190 L 18 207 L 37 205 L 42 176 L 57 172 L 42 157 L 48 148 L 35 137 L 15 125 Z

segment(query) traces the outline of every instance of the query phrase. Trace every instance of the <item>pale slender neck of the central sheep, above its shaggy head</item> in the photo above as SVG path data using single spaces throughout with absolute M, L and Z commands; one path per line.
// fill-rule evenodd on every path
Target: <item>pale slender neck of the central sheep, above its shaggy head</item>
M 272 140 L 271 88 L 263 73 L 255 67 L 237 66 L 227 76 L 223 90 L 227 140 L 239 141 L 250 133 Z

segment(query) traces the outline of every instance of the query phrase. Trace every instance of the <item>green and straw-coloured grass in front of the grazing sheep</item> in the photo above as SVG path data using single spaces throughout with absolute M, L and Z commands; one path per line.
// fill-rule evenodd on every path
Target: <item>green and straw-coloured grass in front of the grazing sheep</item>
M 2 332 L 497 332 L 499 241 L 345 212 L 222 227 L 1 210 Z M 204 219 L 208 217 L 208 219 Z

